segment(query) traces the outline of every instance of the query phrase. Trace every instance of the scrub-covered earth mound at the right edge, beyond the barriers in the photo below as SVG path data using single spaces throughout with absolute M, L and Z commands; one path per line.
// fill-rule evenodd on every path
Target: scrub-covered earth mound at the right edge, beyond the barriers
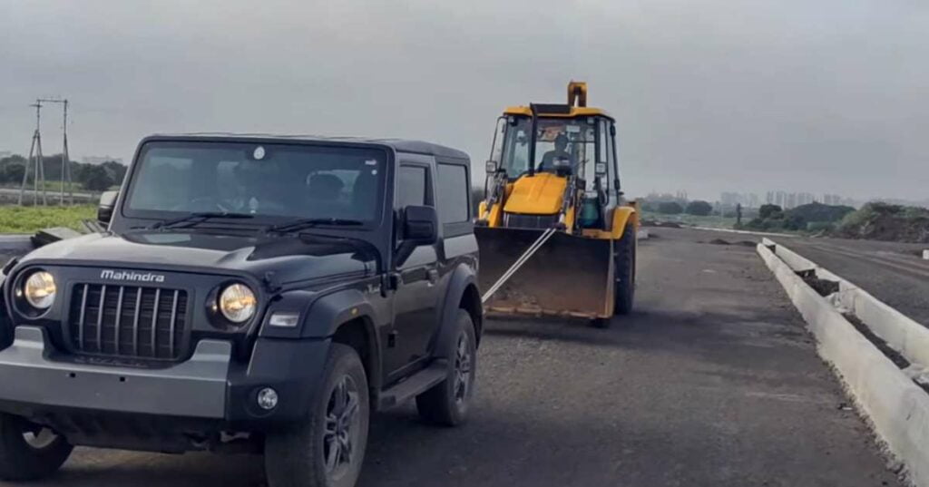
M 929 209 L 869 203 L 844 216 L 836 235 L 893 242 L 929 243 Z

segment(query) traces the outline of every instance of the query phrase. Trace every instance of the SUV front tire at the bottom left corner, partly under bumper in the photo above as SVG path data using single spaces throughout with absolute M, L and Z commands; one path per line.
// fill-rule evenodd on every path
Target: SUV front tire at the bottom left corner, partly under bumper
M 0 479 L 39 480 L 58 471 L 74 447 L 51 429 L 0 415 Z

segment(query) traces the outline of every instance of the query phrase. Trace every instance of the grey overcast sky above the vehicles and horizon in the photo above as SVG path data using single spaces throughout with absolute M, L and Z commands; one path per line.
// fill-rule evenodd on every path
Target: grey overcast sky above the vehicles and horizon
M 0 0 L 0 151 L 60 95 L 72 157 L 256 131 L 424 138 L 478 168 L 504 106 L 571 78 L 617 117 L 634 195 L 929 196 L 924 0 Z

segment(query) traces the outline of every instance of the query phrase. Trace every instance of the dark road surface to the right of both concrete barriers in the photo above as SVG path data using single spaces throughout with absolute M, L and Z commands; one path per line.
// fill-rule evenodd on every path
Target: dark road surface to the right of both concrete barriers
M 779 242 L 929 326 L 929 260 L 922 259 L 929 244 L 809 238 Z

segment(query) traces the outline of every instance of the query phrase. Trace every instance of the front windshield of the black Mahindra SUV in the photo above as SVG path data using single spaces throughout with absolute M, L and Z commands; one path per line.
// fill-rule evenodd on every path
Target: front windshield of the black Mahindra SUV
M 150 142 L 139 155 L 126 213 L 176 217 L 380 218 L 386 152 L 309 145 Z M 246 220 L 247 221 L 247 220 Z

